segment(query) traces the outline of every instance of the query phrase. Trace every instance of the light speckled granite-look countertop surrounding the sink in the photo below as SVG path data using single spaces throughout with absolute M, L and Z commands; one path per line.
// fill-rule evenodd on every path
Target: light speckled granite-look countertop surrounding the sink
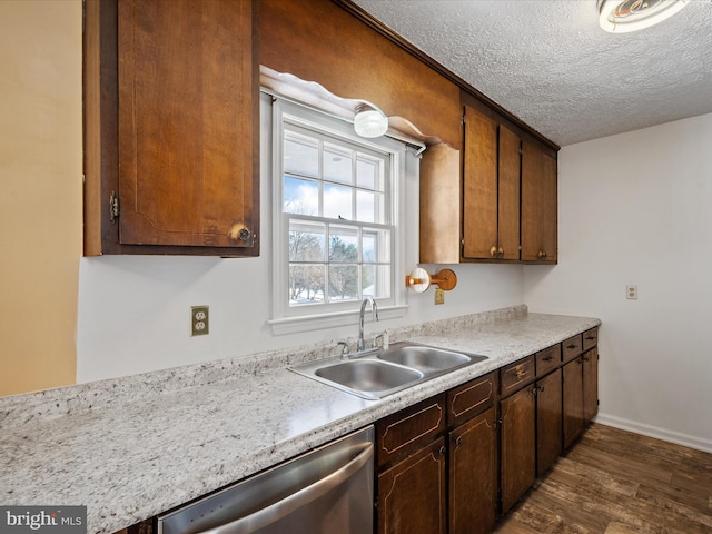
M 600 324 L 517 306 L 394 329 L 488 359 L 380 400 L 287 369 L 333 342 L 0 398 L 0 502 L 86 505 L 112 533 Z

